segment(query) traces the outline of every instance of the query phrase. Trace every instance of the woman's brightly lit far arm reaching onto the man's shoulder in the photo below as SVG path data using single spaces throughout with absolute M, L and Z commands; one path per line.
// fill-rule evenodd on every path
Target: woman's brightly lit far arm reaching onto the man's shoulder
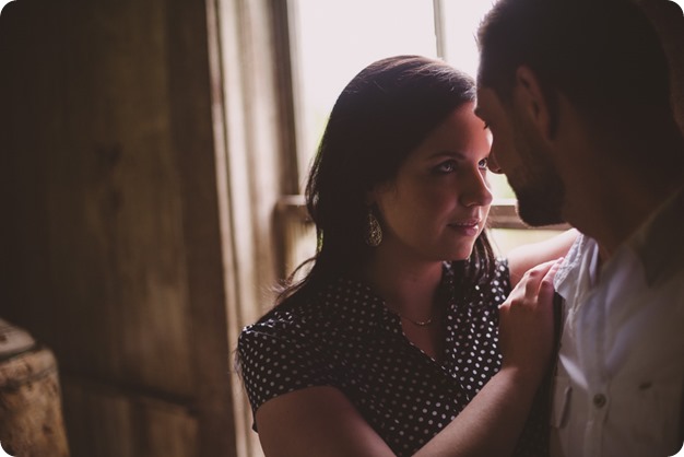
M 508 253 L 510 285 L 514 288 L 530 268 L 565 257 L 579 232 L 570 228 L 546 241 L 518 246 Z

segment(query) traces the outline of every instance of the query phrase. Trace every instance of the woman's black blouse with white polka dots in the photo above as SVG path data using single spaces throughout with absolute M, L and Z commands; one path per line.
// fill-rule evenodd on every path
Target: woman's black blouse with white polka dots
M 413 455 L 500 367 L 498 306 L 510 292 L 507 263 L 497 263 L 495 277 L 476 288 L 470 303 L 455 297 L 448 263 L 444 276 L 449 300 L 441 363 L 409 341 L 399 316 L 357 280 L 340 279 L 314 303 L 276 307 L 243 329 L 238 356 L 252 412 L 279 395 L 332 386 L 398 456 Z M 528 422 L 516 455 L 546 455 L 546 421 Z

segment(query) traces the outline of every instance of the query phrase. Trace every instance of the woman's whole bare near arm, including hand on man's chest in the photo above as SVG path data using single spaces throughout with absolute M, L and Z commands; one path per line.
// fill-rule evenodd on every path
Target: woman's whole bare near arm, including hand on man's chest
M 502 370 L 416 456 L 488 457 L 512 452 L 551 358 L 555 269 L 547 262 L 526 273 L 502 305 Z M 311 387 L 269 400 L 257 410 L 256 421 L 268 457 L 394 455 L 333 387 Z

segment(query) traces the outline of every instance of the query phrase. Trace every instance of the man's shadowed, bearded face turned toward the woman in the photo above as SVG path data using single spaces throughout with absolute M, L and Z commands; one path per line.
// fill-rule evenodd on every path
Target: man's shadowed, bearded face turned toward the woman
M 536 127 L 515 102 L 505 108 L 487 87 L 477 90 L 475 113 L 492 131 L 490 168 L 506 174 L 518 198 L 520 219 L 533 226 L 565 222 L 561 214 L 565 188 Z

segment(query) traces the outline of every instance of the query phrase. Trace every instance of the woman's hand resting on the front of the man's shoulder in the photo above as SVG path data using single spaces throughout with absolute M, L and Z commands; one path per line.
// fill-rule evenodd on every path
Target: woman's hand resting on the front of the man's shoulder
M 553 278 L 562 259 L 528 270 L 499 308 L 503 368 L 526 382 L 539 383 L 546 373 L 554 342 Z

